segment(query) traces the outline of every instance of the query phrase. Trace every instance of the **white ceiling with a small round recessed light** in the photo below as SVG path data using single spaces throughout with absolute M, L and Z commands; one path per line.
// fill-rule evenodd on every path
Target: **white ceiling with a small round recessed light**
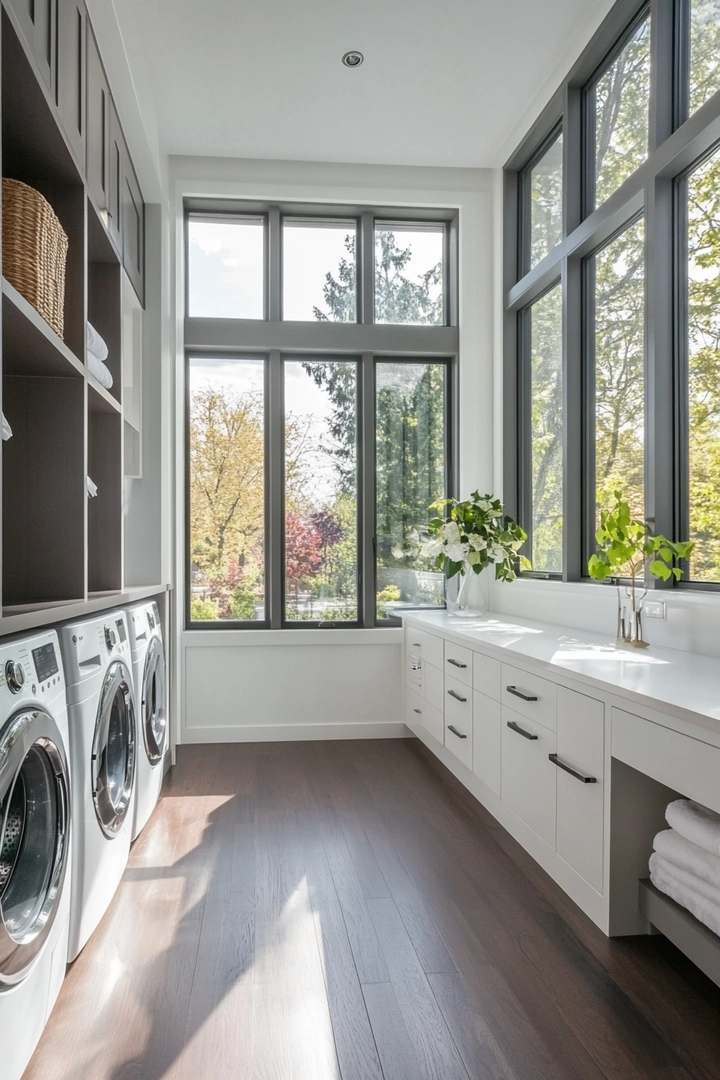
M 501 165 L 611 0 L 114 0 L 163 152 Z M 365 54 L 349 70 L 348 50 Z M 141 87 L 141 89 L 140 89 Z

